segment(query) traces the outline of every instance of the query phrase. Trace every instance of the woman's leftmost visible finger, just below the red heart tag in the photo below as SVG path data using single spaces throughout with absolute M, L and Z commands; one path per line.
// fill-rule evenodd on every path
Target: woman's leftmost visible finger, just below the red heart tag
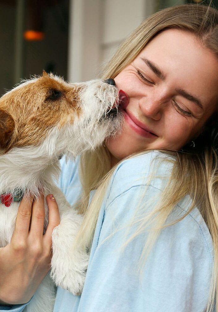
M 33 198 L 24 196 L 20 202 L 14 229 L 14 238 L 27 238 L 29 233 Z

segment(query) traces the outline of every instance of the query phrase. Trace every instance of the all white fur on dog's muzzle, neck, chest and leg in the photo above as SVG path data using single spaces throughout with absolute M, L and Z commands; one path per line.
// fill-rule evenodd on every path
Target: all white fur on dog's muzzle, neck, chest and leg
M 118 99 L 116 88 L 106 85 L 101 80 L 82 85 L 84 88 L 77 94 L 76 99 L 81 113 L 74 119 L 73 124 L 70 124 L 70 121 L 63 127 L 57 124 L 49 130 L 44 142 L 38 146 L 14 148 L 0 156 L 1 194 L 13 193 L 19 188 L 37 197 L 38 189 L 42 188 L 45 194 L 53 193 L 56 197 L 61 223 L 52 234 L 51 277 L 57 286 L 73 294 L 82 291 L 89 255 L 74 246 L 82 216 L 70 207 L 63 193 L 56 187 L 55 181 L 60 173 L 58 156 L 66 154 L 75 158 L 87 149 L 96 148 L 106 137 L 117 134 L 123 121 L 121 112 L 113 119 L 107 118 L 109 108 Z M 22 85 L 17 88 L 22 88 Z M 10 207 L 0 204 L 1 247 L 11 241 L 18 206 L 17 202 L 12 203 Z M 47 207 L 45 210 L 46 228 Z M 55 285 L 47 275 L 24 311 L 51 312 L 54 299 Z

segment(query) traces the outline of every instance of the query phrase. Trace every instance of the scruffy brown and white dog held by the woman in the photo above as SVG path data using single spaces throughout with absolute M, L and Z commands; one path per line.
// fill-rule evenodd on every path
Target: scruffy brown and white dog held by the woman
M 46 72 L 0 99 L 0 247 L 12 238 L 16 196 L 38 197 L 39 189 L 53 193 L 61 215 L 52 235 L 52 279 L 45 277 L 24 311 L 53 311 L 54 282 L 74 294 L 83 288 L 88 255 L 76 246 L 70 252 L 82 216 L 53 181 L 60 172 L 60 154 L 75 158 L 119 132 L 123 124 L 119 99 L 117 88 L 102 80 L 70 84 Z

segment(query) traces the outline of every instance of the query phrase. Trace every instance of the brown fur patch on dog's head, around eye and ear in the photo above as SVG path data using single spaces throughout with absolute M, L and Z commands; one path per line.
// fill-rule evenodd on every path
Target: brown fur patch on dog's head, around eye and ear
M 38 79 L 3 95 L 0 99 L 0 148 L 8 151 L 13 147 L 38 145 L 53 126 L 73 123 L 75 114 L 80 114 L 80 90 L 81 85 L 71 85 L 62 79 L 57 81 L 43 72 Z

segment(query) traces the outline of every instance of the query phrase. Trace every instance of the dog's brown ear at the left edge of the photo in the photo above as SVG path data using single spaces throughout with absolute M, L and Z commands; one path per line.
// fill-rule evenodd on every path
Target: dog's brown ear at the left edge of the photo
M 14 131 L 14 119 L 6 111 L 0 109 L 0 148 L 8 149 Z

